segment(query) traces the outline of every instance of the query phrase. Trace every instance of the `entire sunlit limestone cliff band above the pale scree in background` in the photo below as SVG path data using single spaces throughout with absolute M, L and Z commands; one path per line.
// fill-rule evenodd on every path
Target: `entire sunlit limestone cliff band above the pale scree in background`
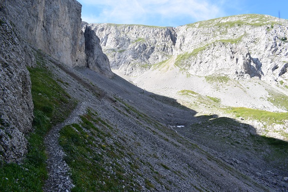
M 240 15 L 177 28 L 90 26 L 99 36 L 111 67 L 126 75 L 143 74 L 154 64 L 177 56 L 175 65 L 192 75 L 287 79 L 287 20 Z

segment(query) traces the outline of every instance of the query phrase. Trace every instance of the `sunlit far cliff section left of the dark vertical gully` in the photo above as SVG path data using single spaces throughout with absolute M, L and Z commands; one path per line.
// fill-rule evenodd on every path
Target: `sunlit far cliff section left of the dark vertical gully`
M 100 37 L 100 45 L 111 68 L 120 69 L 126 75 L 140 75 L 173 54 L 174 28 L 116 24 L 89 26 Z

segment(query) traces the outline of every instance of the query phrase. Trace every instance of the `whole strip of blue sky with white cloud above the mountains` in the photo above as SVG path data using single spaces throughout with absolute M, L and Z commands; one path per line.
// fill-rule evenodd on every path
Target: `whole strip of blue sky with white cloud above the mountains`
M 288 0 L 78 0 L 88 23 L 177 27 L 239 14 L 288 19 Z

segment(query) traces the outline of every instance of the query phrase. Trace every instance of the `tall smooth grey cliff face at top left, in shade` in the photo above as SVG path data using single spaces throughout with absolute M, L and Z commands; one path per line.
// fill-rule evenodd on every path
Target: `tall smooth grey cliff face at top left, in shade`
M 9 0 L 4 9 L 23 38 L 70 67 L 86 66 L 81 4 L 74 0 Z

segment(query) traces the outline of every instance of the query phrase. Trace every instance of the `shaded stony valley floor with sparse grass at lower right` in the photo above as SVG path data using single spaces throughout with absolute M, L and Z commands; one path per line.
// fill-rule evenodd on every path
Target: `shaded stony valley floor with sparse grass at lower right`
M 197 123 L 175 129 L 246 174 L 270 185 L 284 184 L 282 178 L 288 175 L 288 142 L 260 136 L 253 126 L 235 119 L 215 115 L 197 119 Z

